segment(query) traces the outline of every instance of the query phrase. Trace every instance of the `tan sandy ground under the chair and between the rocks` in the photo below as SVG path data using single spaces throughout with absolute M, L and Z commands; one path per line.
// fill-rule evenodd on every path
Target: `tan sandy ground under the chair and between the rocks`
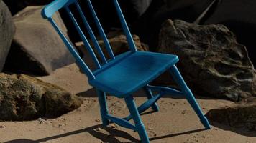
M 79 108 L 57 119 L 37 119 L 29 122 L 0 122 L 0 142 L 8 143 L 98 143 L 140 142 L 137 132 L 116 124 L 101 126 L 99 104 L 95 91 L 75 64 L 58 69 L 52 75 L 39 77 L 45 82 L 57 84 L 73 94 L 83 97 Z M 134 94 L 137 104 L 145 101 L 142 92 Z M 221 99 L 196 97 L 206 113 L 209 109 L 224 107 L 232 102 Z M 123 99 L 108 97 L 109 111 L 118 117 L 127 115 Z M 148 109 L 142 120 L 155 143 L 255 143 L 256 132 L 234 129 L 211 122 L 212 129 L 204 130 L 186 99 L 168 96 L 157 102 L 160 112 Z

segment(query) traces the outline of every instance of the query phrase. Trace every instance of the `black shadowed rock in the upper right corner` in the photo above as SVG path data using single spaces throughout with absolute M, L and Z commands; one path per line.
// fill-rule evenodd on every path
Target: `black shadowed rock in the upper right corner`
M 256 1 L 224 0 L 221 1 L 202 24 L 224 24 L 234 34 L 237 41 L 247 47 L 252 64 L 256 66 Z

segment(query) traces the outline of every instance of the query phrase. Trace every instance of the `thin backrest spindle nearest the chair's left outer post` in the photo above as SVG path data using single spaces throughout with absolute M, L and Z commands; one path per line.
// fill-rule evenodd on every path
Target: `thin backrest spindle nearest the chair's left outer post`
M 79 36 L 81 37 L 83 44 L 85 44 L 86 49 L 88 50 L 89 54 L 92 56 L 94 63 L 96 64 L 97 68 L 100 69 L 101 65 L 99 64 L 99 61 L 93 52 L 93 49 L 91 48 L 91 45 L 89 44 L 88 40 L 86 39 L 86 36 L 83 34 L 83 31 L 81 30 L 80 26 L 78 25 L 78 22 L 76 21 L 75 17 L 73 16 L 72 12 L 68 8 L 68 6 L 65 6 L 65 10 L 68 12 L 68 16 L 70 16 L 70 19 L 73 21 L 73 24 L 76 26 L 76 30 L 78 31 Z

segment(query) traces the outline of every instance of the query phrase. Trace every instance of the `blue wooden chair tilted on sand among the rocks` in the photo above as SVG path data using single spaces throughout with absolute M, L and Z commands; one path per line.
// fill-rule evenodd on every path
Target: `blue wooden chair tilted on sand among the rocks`
M 137 51 L 130 31 L 128 29 L 127 23 L 124 20 L 124 16 L 122 14 L 118 1 L 113 0 L 114 6 L 116 7 L 117 14 L 122 24 L 122 29 L 124 30 L 124 34 L 127 36 L 127 41 L 129 43 L 129 51 L 125 52 L 124 54 L 114 56 L 106 34 L 104 33 L 99 19 L 96 16 L 96 12 L 93 9 L 91 1 L 83 1 L 88 2 L 88 7 L 91 10 L 94 22 L 98 28 L 101 38 L 104 40 L 106 51 L 108 51 L 111 59 L 106 59 L 104 53 L 101 51 L 101 47 L 96 40 L 95 34 L 93 34 L 91 26 L 86 20 L 86 16 L 83 14 L 83 11 L 81 10 L 81 7 L 79 6 L 77 0 L 52 1 L 52 3 L 45 6 L 45 8 L 42 10 L 42 16 L 45 19 L 48 19 L 52 26 L 54 26 L 61 39 L 63 39 L 70 53 L 73 54 L 73 56 L 75 57 L 78 65 L 81 66 L 81 69 L 87 75 L 89 79 L 89 84 L 96 88 L 99 97 L 99 104 L 101 107 L 101 118 L 104 126 L 108 125 L 109 122 L 115 122 L 122 127 L 137 131 L 140 135 L 140 139 L 142 142 L 150 142 L 147 137 L 145 126 L 140 119 L 140 113 L 144 112 L 150 107 L 152 107 L 152 109 L 157 112 L 159 110 L 156 103 L 157 100 L 160 99 L 160 97 L 163 97 L 164 94 L 170 94 L 173 96 L 186 97 L 189 104 L 191 104 L 191 107 L 193 107 L 194 111 L 201 120 L 201 123 L 204 124 L 204 127 L 206 129 L 210 129 L 211 127 L 208 120 L 204 116 L 204 113 L 198 106 L 198 103 L 196 102 L 195 97 L 193 97 L 191 90 L 188 89 L 177 67 L 175 66 L 175 64 L 178 62 L 178 56 L 172 54 Z M 73 16 L 73 12 L 70 11 L 70 5 L 76 6 L 78 13 L 83 20 L 83 26 L 86 27 L 87 32 L 93 42 L 93 46 L 95 47 L 94 51 L 97 51 L 99 56 L 96 56 L 90 44 L 88 43 L 88 39 L 86 38 L 78 22 Z M 97 67 L 96 70 L 91 71 L 91 69 L 88 68 L 88 66 L 81 59 L 81 57 L 78 55 L 77 51 L 73 47 L 73 44 L 70 43 L 70 41 L 65 37 L 63 32 L 59 29 L 54 19 L 52 19 L 52 14 L 55 14 L 56 11 L 62 8 L 68 12 L 70 20 L 73 21 L 73 24 L 76 26 L 78 34 L 81 36 L 81 39 L 86 46 L 86 49 L 93 58 L 93 61 Z M 180 91 L 169 87 L 156 87 L 149 84 L 150 82 L 152 82 L 152 80 L 154 80 L 160 74 L 163 74 L 163 72 L 167 70 L 170 72 L 175 82 L 177 82 L 177 84 L 179 85 Z M 137 108 L 132 94 L 137 91 L 137 89 L 141 88 L 144 89 L 147 93 L 148 100 Z M 152 91 L 155 91 L 158 94 L 153 95 Z M 130 115 L 124 119 L 121 119 L 109 114 L 106 104 L 106 93 L 114 95 L 118 98 L 124 98 Z M 135 125 L 129 122 L 130 119 L 134 120 Z

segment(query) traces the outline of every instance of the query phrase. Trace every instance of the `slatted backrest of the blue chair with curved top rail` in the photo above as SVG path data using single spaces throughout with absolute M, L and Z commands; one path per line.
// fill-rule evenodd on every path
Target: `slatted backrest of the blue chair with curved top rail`
M 91 11 L 91 15 L 94 20 L 94 24 L 96 24 L 96 27 L 99 31 L 99 35 L 101 36 L 101 39 L 103 39 L 104 44 L 106 46 L 106 51 L 108 52 L 109 56 L 111 57 L 110 60 L 114 60 L 115 56 L 113 54 L 113 51 L 111 49 L 111 46 L 109 44 L 109 41 L 106 37 L 106 34 L 104 32 L 104 29 L 102 29 L 101 23 L 98 19 L 98 16 L 96 15 L 96 11 L 93 9 L 93 5 L 91 4 L 90 0 L 83 0 L 87 1 L 89 10 Z M 122 24 L 122 29 L 124 30 L 124 34 L 127 36 L 127 41 L 129 44 L 129 49 L 130 51 L 134 52 L 137 51 L 136 46 L 134 44 L 134 41 L 132 39 L 132 35 L 129 31 L 129 28 L 127 26 L 127 23 L 124 19 L 124 15 L 122 14 L 122 10 L 119 6 L 119 3 L 117 0 L 112 0 L 114 2 L 114 6 L 116 8 L 117 15 L 119 16 L 119 20 L 121 21 Z M 96 49 L 97 53 L 99 54 L 102 63 L 99 62 L 99 59 L 97 58 L 95 52 L 93 51 L 91 45 L 88 42 L 88 39 L 86 38 L 84 32 L 81 29 L 81 26 L 78 24 L 77 20 L 73 16 L 73 12 L 70 11 L 70 5 L 75 5 L 76 11 L 78 11 L 79 16 L 81 17 L 83 21 L 83 26 L 86 27 L 86 30 L 88 32 L 88 35 L 91 38 L 91 41 L 93 43 L 93 47 Z M 55 23 L 54 19 L 52 19 L 52 15 L 55 14 L 56 11 L 59 11 L 60 9 L 65 9 L 67 11 L 68 16 L 70 17 L 71 21 L 73 21 L 73 24 L 76 26 L 76 30 L 78 31 L 79 36 L 81 37 L 83 44 L 85 45 L 86 49 L 88 50 L 88 53 L 91 54 L 92 59 L 94 61 L 94 64 L 96 64 L 97 69 L 101 69 L 101 67 L 108 63 L 109 60 L 106 60 L 106 57 L 104 56 L 104 53 L 101 50 L 101 47 L 99 46 L 99 43 L 96 39 L 96 34 L 93 33 L 93 30 L 91 29 L 90 24 L 88 23 L 85 14 L 83 14 L 83 11 L 81 9 L 81 6 L 78 4 L 78 0 L 55 0 L 52 1 L 52 3 L 48 4 L 45 6 L 44 9 L 42 9 L 42 16 L 45 19 L 48 19 L 52 26 L 55 28 L 55 30 L 58 32 L 60 35 L 61 39 L 63 39 L 65 45 L 68 47 L 68 50 L 70 51 L 71 54 L 75 57 L 76 61 L 78 62 L 79 66 L 81 66 L 81 69 L 86 73 L 88 76 L 88 79 L 95 79 L 95 76 L 93 75 L 93 72 L 91 69 L 88 68 L 88 66 L 85 64 L 83 59 L 79 56 L 78 52 L 76 51 L 75 47 L 73 44 L 68 40 L 68 38 L 63 34 L 63 32 L 60 30 L 58 25 Z

